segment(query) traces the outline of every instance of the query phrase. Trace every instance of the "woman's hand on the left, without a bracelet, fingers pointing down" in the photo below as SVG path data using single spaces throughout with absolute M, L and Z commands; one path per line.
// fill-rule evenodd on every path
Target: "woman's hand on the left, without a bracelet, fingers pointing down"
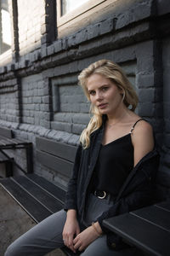
M 73 245 L 73 238 L 80 233 L 79 224 L 77 222 L 77 212 L 75 210 L 68 210 L 65 226 L 63 229 L 63 241 L 66 247 L 76 253 Z

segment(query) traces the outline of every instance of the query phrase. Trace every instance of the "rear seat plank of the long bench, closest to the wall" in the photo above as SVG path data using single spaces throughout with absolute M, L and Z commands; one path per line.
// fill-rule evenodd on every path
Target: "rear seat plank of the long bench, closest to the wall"
M 46 189 L 48 193 L 54 195 L 56 198 L 59 199 L 59 201 L 65 201 L 64 189 L 59 188 L 54 183 L 51 183 L 44 177 L 37 176 L 34 173 L 27 174 L 26 177 L 31 179 L 34 183 L 37 183 L 37 185 L 41 186 L 43 189 Z

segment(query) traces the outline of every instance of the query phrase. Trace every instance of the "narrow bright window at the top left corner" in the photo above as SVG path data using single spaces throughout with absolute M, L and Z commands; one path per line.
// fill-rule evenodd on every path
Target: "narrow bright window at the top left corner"
M 11 48 L 10 15 L 8 0 L 0 0 L 0 54 Z

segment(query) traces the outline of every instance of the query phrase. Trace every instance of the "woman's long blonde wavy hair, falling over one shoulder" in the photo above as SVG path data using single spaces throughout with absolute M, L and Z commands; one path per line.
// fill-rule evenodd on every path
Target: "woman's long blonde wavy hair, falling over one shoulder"
M 79 84 L 82 86 L 85 96 L 90 101 L 90 96 L 87 88 L 88 78 L 94 73 L 98 73 L 104 76 L 106 79 L 110 79 L 114 84 L 122 89 L 122 101 L 128 108 L 131 106 L 131 110 L 134 111 L 138 104 L 138 96 L 133 89 L 132 84 L 127 79 L 126 74 L 122 71 L 113 61 L 100 60 L 92 63 L 87 68 L 84 68 L 78 76 Z M 102 114 L 99 113 L 99 109 L 93 104 L 90 106 L 90 112 L 93 114 L 86 129 L 82 131 L 80 142 L 83 148 L 88 148 L 90 145 L 90 135 L 99 129 L 102 125 Z

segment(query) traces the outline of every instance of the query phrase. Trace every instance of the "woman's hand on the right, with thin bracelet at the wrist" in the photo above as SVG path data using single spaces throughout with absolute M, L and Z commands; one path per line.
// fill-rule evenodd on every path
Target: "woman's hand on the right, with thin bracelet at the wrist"
M 99 227 L 98 223 L 95 223 L 95 229 L 93 226 L 88 227 L 86 230 L 83 230 L 74 240 L 74 248 L 76 250 L 82 251 L 88 247 L 88 245 L 97 239 L 102 234 L 102 230 Z M 99 231 L 97 231 L 99 230 Z

